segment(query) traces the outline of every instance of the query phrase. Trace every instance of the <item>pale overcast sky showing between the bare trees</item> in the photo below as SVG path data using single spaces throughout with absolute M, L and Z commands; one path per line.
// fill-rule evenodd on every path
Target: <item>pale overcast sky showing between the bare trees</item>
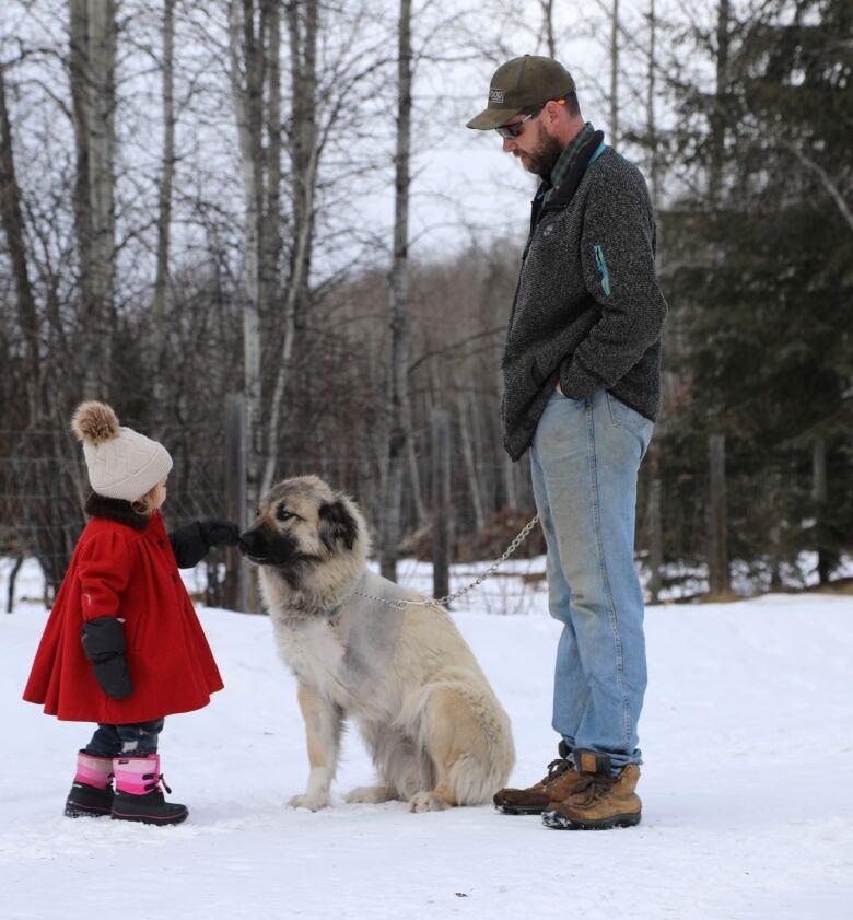
M 343 10 L 352 7 L 344 4 Z M 385 16 L 383 28 L 394 23 L 398 0 L 372 2 Z M 639 48 L 645 47 L 644 12 L 651 0 L 620 0 L 620 20 L 627 35 L 622 40 L 619 100 L 623 124 L 645 120 L 645 62 Z M 666 14 L 675 0 L 656 0 L 658 14 Z M 19 38 L 31 46 L 67 47 L 66 0 L 0 0 L 0 43 L 3 59 L 14 54 Z M 610 141 L 609 40 L 611 0 L 562 0 L 554 3 L 557 57 L 575 78 L 585 117 L 603 128 Z M 195 103 L 179 113 L 176 175 L 176 217 L 174 252 L 207 241 L 197 238 L 199 230 L 182 217 L 182 196 L 187 208 L 197 207 L 192 196 L 211 198 L 217 206 L 238 214 L 242 186 L 236 155 L 236 128 L 227 88 L 227 39 L 224 32 L 224 0 L 211 7 L 185 7 L 176 42 L 176 89 L 180 94 L 195 74 Z M 680 9 L 685 9 L 683 5 Z M 194 23 L 188 23 L 191 10 Z M 145 226 L 156 206 L 156 177 L 160 171 L 160 79 L 145 44 L 160 43 L 160 5 L 144 0 L 124 0 L 120 47 L 119 153 L 120 185 L 119 236 L 128 228 Z M 467 12 L 466 12 L 467 11 Z M 465 123 L 487 102 L 489 81 L 499 63 L 522 54 L 544 51 L 539 0 L 414 0 L 413 40 L 425 54 L 418 62 L 414 79 L 413 163 L 414 183 L 410 208 L 411 252 L 429 258 L 453 253 L 474 240 L 489 237 L 523 238 L 529 214 L 529 200 L 536 180 L 521 163 L 501 150 L 494 132 L 471 131 Z M 692 13 L 691 13 L 692 15 Z M 377 19 L 378 22 L 378 19 Z M 393 27 L 393 26 L 392 26 Z M 195 30 L 195 31 L 194 31 Z M 199 38 L 198 36 L 202 36 Z M 212 36 L 212 37 L 211 37 Z M 633 44 L 633 47 L 632 47 Z M 347 49 L 349 50 L 349 49 Z M 284 57 L 287 48 L 282 49 Z M 326 49 L 328 54 L 328 50 Z M 385 54 L 393 54 L 386 46 Z M 440 61 L 434 60 L 439 56 Z M 283 61 L 287 65 L 287 60 Z M 27 70 L 30 68 L 30 70 Z M 200 79 L 198 79 L 200 74 Z M 73 136 L 67 117 L 60 116 L 57 101 L 68 107 L 67 77 L 57 56 L 46 54 L 15 68 L 13 82 L 26 103 L 13 108 L 13 127 L 21 142 L 30 147 L 20 155 L 20 178 L 24 187 L 46 194 L 46 183 L 67 183 L 60 168 L 72 167 Z M 31 79 L 35 78 L 35 79 Z M 50 86 L 49 93 L 38 88 Z M 182 82 L 183 81 L 183 82 Z M 378 174 L 348 179 L 346 209 L 341 221 L 363 222 L 379 245 L 389 247 L 393 219 L 394 102 L 393 85 L 387 98 L 377 103 L 369 140 L 367 159 L 384 165 Z M 52 95 L 50 95 L 52 93 Z M 22 107 L 23 106 L 23 107 Z M 45 128 L 38 127 L 44 123 Z M 33 143 L 43 133 L 48 142 Z M 55 147 L 51 147 L 55 145 Z M 631 155 L 631 151 L 627 151 Z M 639 154 L 639 151 L 634 151 Z M 362 154 L 363 155 L 363 154 Z M 187 199 L 190 203 L 186 203 Z M 239 245 L 239 221 L 225 224 Z M 196 234 L 196 236 L 194 236 Z M 153 252 L 152 247 L 149 247 Z M 387 253 L 387 249 L 386 249 Z M 337 253 L 340 258 L 344 255 Z M 382 257 L 377 252 L 377 257 Z M 335 249 L 318 253 L 315 267 L 324 271 L 324 259 L 335 258 Z M 122 271 L 138 272 L 139 283 L 152 277 L 145 258 Z M 329 265 L 325 266 L 326 269 Z

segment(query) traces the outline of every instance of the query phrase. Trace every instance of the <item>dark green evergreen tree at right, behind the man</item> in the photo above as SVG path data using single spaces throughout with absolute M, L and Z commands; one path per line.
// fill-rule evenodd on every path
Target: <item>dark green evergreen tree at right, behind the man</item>
M 716 199 L 663 218 L 691 384 L 676 428 L 685 456 L 727 435 L 733 555 L 818 549 L 823 580 L 853 532 L 853 7 L 771 0 L 734 35 L 726 85 L 682 94 L 674 138 L 711 175 L 725 125 Z

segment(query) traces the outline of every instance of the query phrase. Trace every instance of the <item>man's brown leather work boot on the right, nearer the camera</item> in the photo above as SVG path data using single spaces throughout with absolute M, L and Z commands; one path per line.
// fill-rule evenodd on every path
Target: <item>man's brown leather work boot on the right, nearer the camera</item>
M 610 758 L 596 750 L 575 750 L 581 778 L 571 794 L 542 815 L 542 824 L 557 830 L 607 830 L 640 824 L 643 807 L 634 792 L 640 779 L 636 764 L 618 776 L 610 772 Z

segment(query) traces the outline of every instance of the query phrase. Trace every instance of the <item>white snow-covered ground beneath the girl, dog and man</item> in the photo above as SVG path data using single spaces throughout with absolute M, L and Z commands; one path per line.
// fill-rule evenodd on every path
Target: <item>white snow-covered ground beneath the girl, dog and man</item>
M 459 569 L 454 586 L 475 571 Z M 424 578 L 420 567 L 401 570 L 407 583 Z M 27 567 L 19 596 L 39 590 Z M 455 616 L 512 718 L 513 779 L 533 782 L 557 743 L 558 625 L 544 583 L 492 579 Z M 61 816 L 89 726 L 21 701 L 44 607 L 19 599 L 0 614 L 2 920 L 851 916 L 850 597 L 650 607 L 643 823 L 603 834 L 548 830 L 491 807 L 346 805 L 342 792 L 372 778 L 354 733 L 335 807 L 285 807 L 307 761 L 270 624 L 215 609 L 200 617 L 226 687 L 207 709 L 167 720 L 163 768 L 190 817 L 152 828 Z

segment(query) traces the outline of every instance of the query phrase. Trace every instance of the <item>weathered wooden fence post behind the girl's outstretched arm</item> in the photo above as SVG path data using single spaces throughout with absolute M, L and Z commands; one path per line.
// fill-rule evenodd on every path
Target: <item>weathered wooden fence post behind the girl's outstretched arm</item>
M 225 396 L 225 508 L 229 521 L 246 528 L 246 399 L 242 393 Z M 248 563 L 235 546 L 225 554 L 225 606 L 248 610 Z

